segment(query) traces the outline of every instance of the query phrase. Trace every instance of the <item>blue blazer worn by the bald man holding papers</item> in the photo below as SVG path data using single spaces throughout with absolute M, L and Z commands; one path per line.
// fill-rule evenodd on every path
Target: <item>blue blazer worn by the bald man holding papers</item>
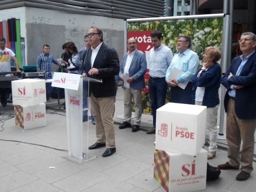
M 128 53 L 124 54 L 122 63 L 120 65 L 119 77 L 124 75 L 124 67 L 128 57 Z M 133 89 L 145 88 L 144 74 L 147 71 L 147 61 L 146 56 L 143 52 L 139 50 L 134 51 L 132 62 L 129 68 L 129 76 L 133 77 L 133 81 L 130 83 L 130 87 Z M 124 82 L 123 82 L 124 87 Z

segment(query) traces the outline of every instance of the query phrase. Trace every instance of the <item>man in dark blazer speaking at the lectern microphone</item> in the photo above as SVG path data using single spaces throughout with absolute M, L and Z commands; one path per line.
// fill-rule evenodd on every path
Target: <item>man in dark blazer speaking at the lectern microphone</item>
M 119 59 L 115 49 L 103 43 L 103 32 L 97 27 L 88 31 L 91 49 L 83 56 L 83 76 L 102 79 L 102 83 L 90 82 L 90 103 L 96 121 L 96 143 L 89 149 L 107 146 L 102 154 L 107 157 L 116 152 L 113 116 L 115 112 L 116 82 L 119 72 Z

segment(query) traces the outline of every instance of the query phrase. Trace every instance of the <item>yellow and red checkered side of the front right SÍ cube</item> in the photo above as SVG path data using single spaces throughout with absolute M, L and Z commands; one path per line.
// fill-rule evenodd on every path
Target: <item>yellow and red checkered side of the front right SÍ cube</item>
M 161 150 L 154 150 L 154 177 L 168 192 L 170 156 Z

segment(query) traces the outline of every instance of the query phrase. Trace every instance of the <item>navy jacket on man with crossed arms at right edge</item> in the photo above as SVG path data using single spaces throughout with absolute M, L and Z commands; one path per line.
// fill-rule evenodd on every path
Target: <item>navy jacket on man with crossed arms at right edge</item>
M 243 67 L 239 76 L 235 75 L 241 64 L 240 56 L 233 59 L 231 66 L 221 79 L 221 84 L 227 89 L 224 106 L 227 111 L 227 103 L 229 99 L 228 91 L 231 85 L 244 86 L 236 89 L 235 95 L 235 113 L 240 119 L 256 118 L 256 52 L 254 52 Z M 229 73 L 233 76 L 227 79 Z

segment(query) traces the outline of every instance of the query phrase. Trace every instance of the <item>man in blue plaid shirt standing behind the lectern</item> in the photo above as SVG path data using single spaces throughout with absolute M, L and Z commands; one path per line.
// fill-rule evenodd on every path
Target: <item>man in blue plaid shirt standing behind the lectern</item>
M 60 66 L 56 59 L 49 53 L 50 45 L 45 44 L 43 46 L 43 53 L 41 53 L 37 58 L 38 71 L 46 72 L 47 79 L 52 79 L 53 67 L 52 63 Z M 46 83 L 46 98 L 47 102 L 50 102 L 50 94 L 52 91 L 51 83 Z

